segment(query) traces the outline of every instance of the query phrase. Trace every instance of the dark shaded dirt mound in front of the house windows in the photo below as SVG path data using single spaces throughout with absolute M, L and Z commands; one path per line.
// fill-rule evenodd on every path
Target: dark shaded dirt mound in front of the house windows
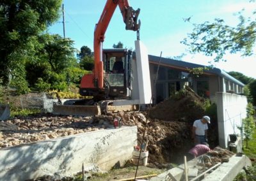
M 167 121 L 193 122 L 204 115 L 204 101 L 192 89 L 186 87 L 154 106 L 150 110 L 149 117 Z

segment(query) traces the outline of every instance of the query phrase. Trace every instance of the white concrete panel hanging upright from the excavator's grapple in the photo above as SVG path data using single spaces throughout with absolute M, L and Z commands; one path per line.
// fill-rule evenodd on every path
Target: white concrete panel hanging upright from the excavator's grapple
M 140 40 L 135 41 L 136 64 L 138 74 L 138 86 L 140 92 L 140 103 L 150 104 L 152 92 L 149 73 L 148 52 Z

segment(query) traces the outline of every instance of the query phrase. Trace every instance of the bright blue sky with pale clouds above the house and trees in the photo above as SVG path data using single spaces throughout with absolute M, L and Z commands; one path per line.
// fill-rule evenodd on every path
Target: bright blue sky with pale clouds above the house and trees
M 93 51 L 93 31 L 99 21 L 106 1 L 64 0 L 65 33 L 67 38 L 74 40 L 74 47 L 80 49 L 83 45 Z M 256 10 L 256 3 L 246 0 L 182 0 L 182 1 L 151 1 L 130 0 L 130 6 L 141 9 L 140 39 L 148 48 L 148 54 L 163 57 L 175 57 L 186 54 L 182 61 L 207 65 L 212 57 L 201 54 L 190 55 L 186 46 L 180 41 L 191 33 L 193 25 L 184 22 L 184 18 L 191 17 L 192 23 L 212 22 L 214 18 L 223 18 L 229 25 L 237 24 L 234 13 L 244 8 L 245 15 Z M 49 33 L 63 35 L 62 17 L 59 22 L 49 28 Z M 112 48 L 113 44 L 121 41 L 127 48 L 134 49 L 136 33 L 126 31 L 119 8 L 111 19 L 105 34 L 104 48 Z M 256 78 L 255 55 L 243 58 L 239 54 L 227 55 L 227 62 L 216 64 L 217 68 L 225 71 L 239 71 L 246 76 Z

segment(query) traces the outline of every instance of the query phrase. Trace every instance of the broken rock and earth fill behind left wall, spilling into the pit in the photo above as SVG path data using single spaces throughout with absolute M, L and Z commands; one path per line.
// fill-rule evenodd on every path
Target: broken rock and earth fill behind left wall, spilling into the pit
M 122 120 L 123 126 L 138 126 L 138 143 L 148 140 L 149 161 L 170 162 L 189 140 L 185 122 L 146 119 L 145 113 L 128 112 L 95 117 L 37 115 L 6 120 L 0 124 L 0 147 L 49 140 L 61 136 L 113 128 L 113 120 Z M 147 122 L 147 127 L 146 126 Z M 145 140 L 144 140 L 145 141 Z M 189 140 L 190 141 L 190 140 Z M 189 149 L 189 148 L 188 148 Z

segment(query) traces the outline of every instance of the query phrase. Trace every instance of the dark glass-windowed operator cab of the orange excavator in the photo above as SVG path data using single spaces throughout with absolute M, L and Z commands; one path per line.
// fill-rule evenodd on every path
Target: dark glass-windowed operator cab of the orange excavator
M 123 48 L 103 50 L 104 89 L 109 98 L 131 97 L 132 52 Z

